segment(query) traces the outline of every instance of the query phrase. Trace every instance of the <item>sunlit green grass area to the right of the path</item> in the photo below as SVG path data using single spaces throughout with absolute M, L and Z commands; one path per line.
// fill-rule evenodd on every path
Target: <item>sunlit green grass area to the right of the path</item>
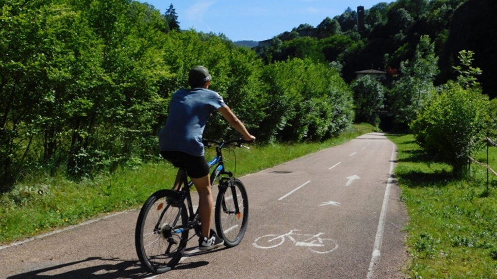
M 410 217 L 411 278 L 497 278 L 497 177 L 473 164 L 471 178 L 452 178 L 412 135 L 388 135 L 399 149 L 395 174 Z M 486 152 L 477 156 L 486 161 Z M 496 169 L 497 148 L 490 150 Z

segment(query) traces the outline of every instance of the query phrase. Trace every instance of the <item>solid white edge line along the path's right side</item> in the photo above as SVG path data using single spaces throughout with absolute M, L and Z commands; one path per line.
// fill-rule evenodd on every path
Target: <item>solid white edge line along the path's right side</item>
M 380 220 L 378 221 L 378 229 L 376 230 L 376 237 L 373 246 L 373 255 L 371 256 L 371 263 L 369 263 L 368 275 L 366 279 L 372 279 L 374 267 L 380 262 L 381 258 L 381 243 L 383 241 L 383 232 L 385 229 L 385 216 L 387 215 L 388 200 L 390 198 L 390 188 L 393 182 L 393 172 L 395 166 L 395 144 L 392 142 L 392 156 L 390 157 L 390 173 L 388 175 L 387 188 L 385 189 L 385 197 L 383 198 L 383 206 L 381 208 Z

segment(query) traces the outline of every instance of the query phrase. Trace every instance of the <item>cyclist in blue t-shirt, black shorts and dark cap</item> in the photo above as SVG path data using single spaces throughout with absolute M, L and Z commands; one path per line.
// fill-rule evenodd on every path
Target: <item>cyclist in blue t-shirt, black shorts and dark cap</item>
M 219 111 L 243 139 L 252 141 L 245 125 L 224 103 L 215 91 L 209 90 L 209 70 L 203 66 L 192 68 L 188 73 L 189 89 L 180 89 L 171 97 L 166 125 L 159 133 L 161 155 L 175 167 L 183 167 L 195 185 L 199 195 L 199 214 L 202 237 L 199 250 L 205 251 L 224 244 L 224 240 L 211 230 L 213 199 L 209 178 L 209 166 L 204 157 L 202 134 L 212 112 Z M 175 186 L 178 184 L 176 177 Z

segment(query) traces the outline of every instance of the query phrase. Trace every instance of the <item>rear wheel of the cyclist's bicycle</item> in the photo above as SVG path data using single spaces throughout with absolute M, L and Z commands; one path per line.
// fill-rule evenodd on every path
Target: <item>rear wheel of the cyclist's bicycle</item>
M 186 206 L 176 192 L 160 190 L 152 194 L 140 210 L 135 230 L 135 247 L 142 265 L 155 274 L 173 269 L 188 241 L 187 224 Z

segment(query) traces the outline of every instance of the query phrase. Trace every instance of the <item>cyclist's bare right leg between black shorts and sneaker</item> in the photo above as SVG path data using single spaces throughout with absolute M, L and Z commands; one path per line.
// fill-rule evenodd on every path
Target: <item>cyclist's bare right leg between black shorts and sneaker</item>
M 200 214 L 200 221 L 202 222 L 202 236 L 209 238 L 212 221 L 212 207 L 214 205 L 209 175 L 201 178 L 192 178 L 191 181 L 198 192 L 198 211 Z

